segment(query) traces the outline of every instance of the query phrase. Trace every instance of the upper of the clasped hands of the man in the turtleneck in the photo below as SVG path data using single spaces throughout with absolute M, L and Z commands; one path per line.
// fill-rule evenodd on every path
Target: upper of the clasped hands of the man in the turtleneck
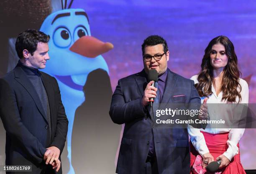
M 59 154 L 60 150 L 59 148 L 55 146 L 51 146 L 49 148 L 46 148 L 46 152 L 44 154 L 44 161 L 46 161 L 45 164 L 51 164 L 53 166 L 53 162 L 55 161 L 55 164 L 58 164 L 59 162 Z

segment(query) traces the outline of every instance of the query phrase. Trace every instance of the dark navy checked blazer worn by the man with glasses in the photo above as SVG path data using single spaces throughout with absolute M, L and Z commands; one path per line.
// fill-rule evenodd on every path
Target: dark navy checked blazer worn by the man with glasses
M 162 103 L 200 103 L 194 82 L 167 69 Z M 150 114 L 143 111 L 142 97 L 146 87 L 144 71 L 118 81 L 112 97 L 110 117 L 123 124 L 116 173 L 143 174 L 152 136 L 159 174 L 188 174 L 190 169 L 189 139 L 186 128 L 159 129 L 152 126 Z M 185 95 L 175 100 L 175 95 Z

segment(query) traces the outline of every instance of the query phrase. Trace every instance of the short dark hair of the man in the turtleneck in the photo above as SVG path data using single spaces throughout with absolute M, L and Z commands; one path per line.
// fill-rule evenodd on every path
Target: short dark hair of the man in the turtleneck
M 41 31 L 37 31 L 34 29 L 28 29 L 26 31 L 21 32 L 15 43 L 15 49 L 19 56 L 19 58 L 23 58 L 23 50 L 27 49 L 28 52 L 33 55 L 36 51 L 36 47 L 38 42 L 48 43 L 50 40 L 50 36 L 46 35 Z

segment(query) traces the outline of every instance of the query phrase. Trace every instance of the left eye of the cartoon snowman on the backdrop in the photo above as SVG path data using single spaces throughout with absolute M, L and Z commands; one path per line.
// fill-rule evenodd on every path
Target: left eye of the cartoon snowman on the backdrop
M 56 46 L 65 48 L 71 44 L 71 35 L 67 28 L 59 27 L 54 31 L 53 41 Z

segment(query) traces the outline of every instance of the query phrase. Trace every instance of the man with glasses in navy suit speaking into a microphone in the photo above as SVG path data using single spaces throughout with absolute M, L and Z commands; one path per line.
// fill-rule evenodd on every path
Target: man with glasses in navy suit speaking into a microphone
M 114 123 L 125 123 L 116 173 L 188 174 L 187 129 L 157 128 L 148 104 L 149 98 L 156 97 L 160 104 L 200 103 L 200 97 L 192 80 L 167 68 L 169 51 L 164 38 L 149 36 L 142 52 L 144 69 L 120 79 L 112 97 L 110 117 Z M 151 69 L 158 73 L 158 88 L 151 86 L 153 81 L 147 82 Z

